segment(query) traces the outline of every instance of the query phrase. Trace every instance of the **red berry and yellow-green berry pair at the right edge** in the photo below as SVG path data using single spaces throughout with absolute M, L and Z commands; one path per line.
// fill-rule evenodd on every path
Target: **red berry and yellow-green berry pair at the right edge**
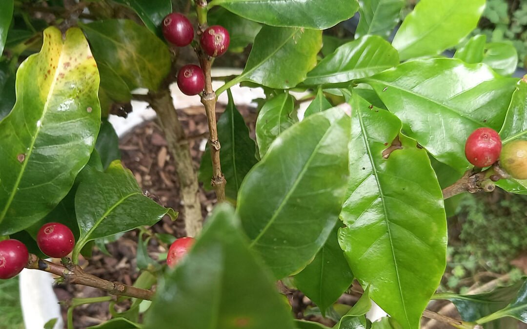
M 500 135 L 492 128 L 478 128 L 466 139 L 465 156 L 476 167 L 488 167 L 498 159 L 513 178 L 527 179 L 527 141 L 516 139 L 502 147 Z

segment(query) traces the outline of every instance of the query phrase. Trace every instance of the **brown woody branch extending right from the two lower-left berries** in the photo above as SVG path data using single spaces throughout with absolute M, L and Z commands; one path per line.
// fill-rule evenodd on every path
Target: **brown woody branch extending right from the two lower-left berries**
M 154 297 L 153 291 L 129 286 L 119 282 L 110 282 L 84 272 L 79 265 L 74 265 L 73 263 L 69 263 L 67 266 L 55 264 L 41 260 L 34 254 L 30 254 L 26 268 L 33 268 L 35 270 L 52 273 L 63 277 L 67 283 L 99 288 L 100 290 L 104 290 L 112 295 L 134 297 L 148 301 L 151 301 Z

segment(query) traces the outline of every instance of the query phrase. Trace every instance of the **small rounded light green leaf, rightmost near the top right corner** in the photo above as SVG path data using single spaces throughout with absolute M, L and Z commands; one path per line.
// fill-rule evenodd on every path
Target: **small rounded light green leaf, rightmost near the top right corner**
M 489 65 L 497 73 L 510 76 L 518 67 L 518 52 L 509 43 L 492 42 L 485 45 L 483 63 Z

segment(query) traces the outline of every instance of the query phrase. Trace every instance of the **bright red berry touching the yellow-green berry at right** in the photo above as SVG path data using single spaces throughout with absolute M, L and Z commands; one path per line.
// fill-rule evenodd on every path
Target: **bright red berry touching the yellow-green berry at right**
M 501 138 L 492 128 L 477 128 L 466 139 L 465 156 L 476 167 L 488 167 L 500 157 Z

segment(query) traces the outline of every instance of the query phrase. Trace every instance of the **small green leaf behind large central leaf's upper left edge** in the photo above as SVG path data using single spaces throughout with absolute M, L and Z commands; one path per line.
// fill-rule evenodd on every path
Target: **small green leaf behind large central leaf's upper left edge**
M 256 119 L 256 141 L 260 158 L 264 157 L 271 143 L 287 128 L 298 122 L 294 99 L 288 93 L 267 101 Z

